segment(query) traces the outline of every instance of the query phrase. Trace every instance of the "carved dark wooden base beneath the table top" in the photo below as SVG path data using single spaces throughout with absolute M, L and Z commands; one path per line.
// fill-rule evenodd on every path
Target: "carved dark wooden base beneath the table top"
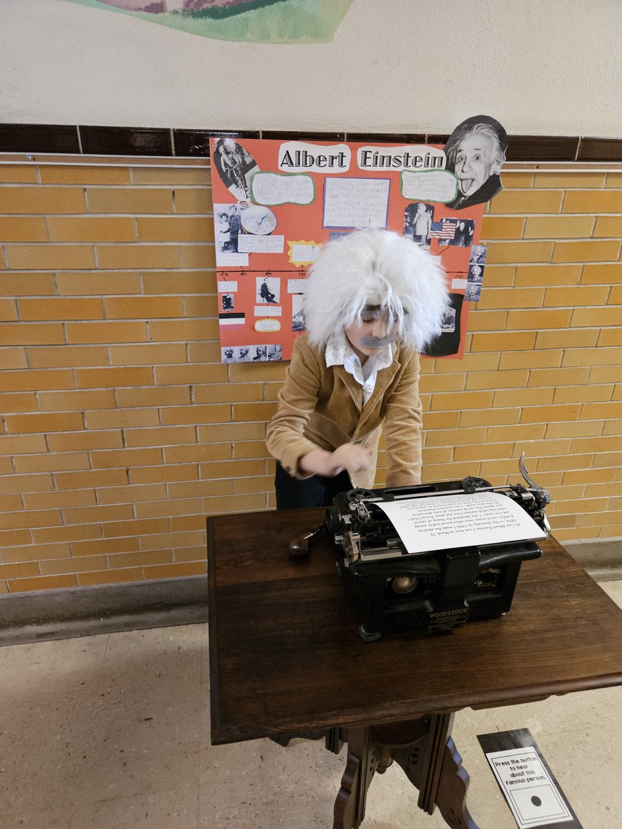
M 338 753 L 347 740 L 333 829 L 361 826 L 374 774 L 384 773 L 394 761 L 419 789 L 421 809 L 431 815 L 438 806 L 451 829 L 478 829 L 465 804 L 469 775 L 449 736 L 453 721 L 453 714 L 430 714 L 408 722 L 330 730 L 327 749 Z

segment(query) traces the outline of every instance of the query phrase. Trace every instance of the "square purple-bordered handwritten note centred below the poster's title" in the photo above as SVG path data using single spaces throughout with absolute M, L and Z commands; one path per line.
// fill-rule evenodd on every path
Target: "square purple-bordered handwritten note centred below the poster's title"
M 324 227 L 386 227 L 388 178 L 327 178 Z

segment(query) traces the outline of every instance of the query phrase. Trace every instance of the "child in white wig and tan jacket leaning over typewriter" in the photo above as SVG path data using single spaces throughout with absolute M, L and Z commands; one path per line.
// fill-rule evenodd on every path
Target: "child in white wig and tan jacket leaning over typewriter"
M 446 307 L 438 260 L 403 236 L 357 230 L 324 247 L 267 429 L 278 509 L 372 487 L 383 423 L 386 486 L 420 482 L 419 352 Z

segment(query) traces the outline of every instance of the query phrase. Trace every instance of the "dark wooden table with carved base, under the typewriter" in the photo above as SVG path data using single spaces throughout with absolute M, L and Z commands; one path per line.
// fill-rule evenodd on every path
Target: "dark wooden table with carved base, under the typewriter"
M 367 788 L 395 761 L 453 829 L 478 829 L 450 737 L 454 712 L 622 684 L 622 611 L 556 541 L 522 564 L 508 615 L 449 634 L 362 642 L 328 538 L 289 541 L 324 511 L 207 520 L 211 741 L 308 731 L 347 742 L 333 829 L 356 829 Z

